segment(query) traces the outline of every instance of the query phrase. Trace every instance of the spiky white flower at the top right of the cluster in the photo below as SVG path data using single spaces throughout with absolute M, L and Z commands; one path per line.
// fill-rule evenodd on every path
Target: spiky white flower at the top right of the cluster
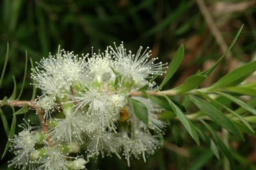
M 147 51 L 148 48 L 141 54 L 142 49 L 143 48 L 140 47 L 136 55 L 132 54 L 131 51 L 127 54 L 123 42 L 119 47 L 115 45 L 115 50 L 111 48 L 117 60 L 117 72 L 123 77 L 127 76 L 133 78 L 137 88 L 149 84 L 146 78 L 152 78 L 154 74 L 162 74 L 163 72 L 159 70 L 159 68 L 166 67 L 166 64 L 162 64 L 162 62 L 155 64 L 154 62 L 157 58 L 150 59 L 151 51 Z

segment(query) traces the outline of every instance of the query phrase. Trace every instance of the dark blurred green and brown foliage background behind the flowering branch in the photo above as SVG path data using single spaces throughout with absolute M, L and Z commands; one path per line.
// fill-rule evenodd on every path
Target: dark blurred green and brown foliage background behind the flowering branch
M 256 50 L 256 1 L 255 0 L 208 0 L 206 12 L 210 13 L 214 25 L 206 22 L 198 7 L 202 0 L 1 0 L 0 3 L 0 68 L 3 68 L 7 42 L 9 60 L 0 97 L 11 96 L 13 91 L 12 75 L 21 88 L 25 65 L 25 50 L 36 62 L 55 54 L 58 44 L 75 54 L 105 50 L 113 42 L 120 44 L 133 53 L 139 46 L 151 48 L 152 56 L 159 61 L 170 62 L 180 44 L 185 46 L 185 56 L 181 67 L 166 89 L 178 86 L 185 78 L 197 70 L 204 70 L 223 54 L 221 43 L 216 41 L 211 29 L 216 26 L 224 45 L 230 44 L 235 33 L 244 24 L 231 55 L 212 73 L 203 86 L 212 84 L 221 75 L 250 60 L 255 60 Z M 30 73 L 29 73 L 30 74 Z M 31 79 L 27 74 L 25 89 L 21 100 L 29 100 L 32 94 Z M 255 80 L 255 78 L 251 78 Z M 157 81 L 161 81 L 159 78 Z M 3 108 L 11 124 L 11 109 Z M 27 114 L 36 119 L 33 110 Z M 18 122 L 23 116 L 17 116 Z M 36 120 L 34 120 L 36 121 Z M 177 122 L 172 122 L 176 124 Z M 183 138 L 182 147 L 177 147 L 172 138 L 170 127 L 166 131 L 164 149 L 160 149 L 143 161 L 133 160 L 127 167 L 125 160 L 116 156 L 90 161 L 88 169 L 223 169 L 224 156 L 214 157 L 210 149 L 192 141 L 181 124 L 177 124 Z M 200 126 L 200 124 L 198 124 Z M 221 129 L 216 129 L 221 131 Z M 19 131 L 19 129 L 17 129 Z M 16 133 L 17 133 L 16 131 Z M 0 124 L 0 153 L 3 153 L 7 137 Z M 245 135 L 245 142 L 230 137 L 229 147 L 233 151 L 237 169 L 256 169 L 256 139 Z M 0 169 L 7 169 L 7 161 L 13 155 L 7 154 L 1 160 Z

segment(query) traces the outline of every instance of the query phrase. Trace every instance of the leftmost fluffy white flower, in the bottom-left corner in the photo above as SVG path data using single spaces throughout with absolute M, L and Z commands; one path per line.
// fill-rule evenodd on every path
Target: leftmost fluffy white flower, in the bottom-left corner
M 35 150 L 36 133 L 31 132 L 31 126 L 27 122 L 19 124 L 19 126 L 23 128 L 23 131 L 9 140 L 11 142 L 11 151 L 13 151 L 15 157 L 8 162 L 8 166 L 15 165 L 15 167 L 22 167 L 22 169 L 29 166 L 29 169 L 31 169 L 31 167 L 34 167 L 34 163 L 29 161 L 29 153 Z

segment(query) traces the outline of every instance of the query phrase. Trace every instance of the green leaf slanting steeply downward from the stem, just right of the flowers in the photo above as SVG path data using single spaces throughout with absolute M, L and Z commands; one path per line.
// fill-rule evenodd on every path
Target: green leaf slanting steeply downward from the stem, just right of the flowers
M 188 131 L 190 136 L 194 139 L 194 141 L 196 141 L 197 145 L 199 145 L 200 141 L 198 138 L 198 134 L 196 133 L 194 124 L 192 124 L 192 122 L 190 122 L 190 120 L 185 116 L 185 114 L 182 112 L 182 110 L 180 110 L 180 108 L 178 108 L 178 106 L 176 106 L 176 104 L 174 104 L 174 102 L 172 102 L 172 100 L 170 100 L 170 98 L 168 98 L 168 96 L 166 96 L 166 94 L 164 94 L 164 97 L 166 98 L 166 100 L 168 100 L 168 103 L 172 107 L 172 110 L 174 110 L 177 117 L 180 119 L 180 122 L 182 122 L 182 124 L 184 125 L 184 127 L 186 128 L 186 130 Z

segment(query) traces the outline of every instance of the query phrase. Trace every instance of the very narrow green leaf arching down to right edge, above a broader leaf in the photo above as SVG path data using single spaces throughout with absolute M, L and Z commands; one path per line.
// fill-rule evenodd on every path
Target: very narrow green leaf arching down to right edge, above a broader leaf
M 239 120 L 241 120 L 241 122 L 243 122 L 250 130 L 252 133 L 254 133 L 253 128 L 251 127 L 251 125 L 245 120 L 245 118 L 243 118 L 242 116 L 240 116 L 239 114 L 237 114 L 236 112 L 234 112 L 233 110 L 231 110 L 230 108 L 228 108 L 227 106 L 225 106 L 224 104 L 221 104 L 220 102 L 214 100 L 213 98 L 211 98 L 210 96 L 207 96 L 206 94 L 200 92 L 200 95 L 203 96 L 204 98 L 210 100 L 210 102 L 220 106 L 220 108 L 224 108 L 225 110 L 227 110 L 228 112 L 230 112 L 231 114 L 233 114 L 234 116 L 236 116 Z

